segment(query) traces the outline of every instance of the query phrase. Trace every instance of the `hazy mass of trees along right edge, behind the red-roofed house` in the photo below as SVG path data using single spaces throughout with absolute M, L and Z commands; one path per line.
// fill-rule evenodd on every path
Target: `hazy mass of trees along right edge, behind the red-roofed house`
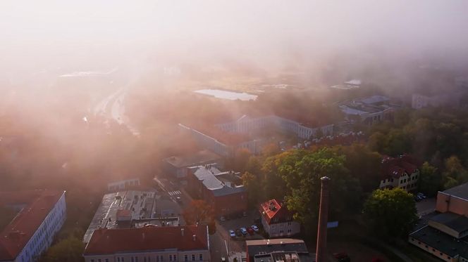
M 468 113 L 448 108 L 400 110 L 394 122 L 370 131 L 368 146 L 385 155 L 409 153 L 423 160 L 419 190 L 437 190 L 468 182 Z

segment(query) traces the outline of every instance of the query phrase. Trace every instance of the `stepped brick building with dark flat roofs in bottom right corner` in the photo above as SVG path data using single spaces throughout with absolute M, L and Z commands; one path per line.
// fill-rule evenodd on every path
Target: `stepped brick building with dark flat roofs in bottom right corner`
M 443 261 L 467 262 L 468 183 L 438 192 L 436 214 L 408 240 Z

